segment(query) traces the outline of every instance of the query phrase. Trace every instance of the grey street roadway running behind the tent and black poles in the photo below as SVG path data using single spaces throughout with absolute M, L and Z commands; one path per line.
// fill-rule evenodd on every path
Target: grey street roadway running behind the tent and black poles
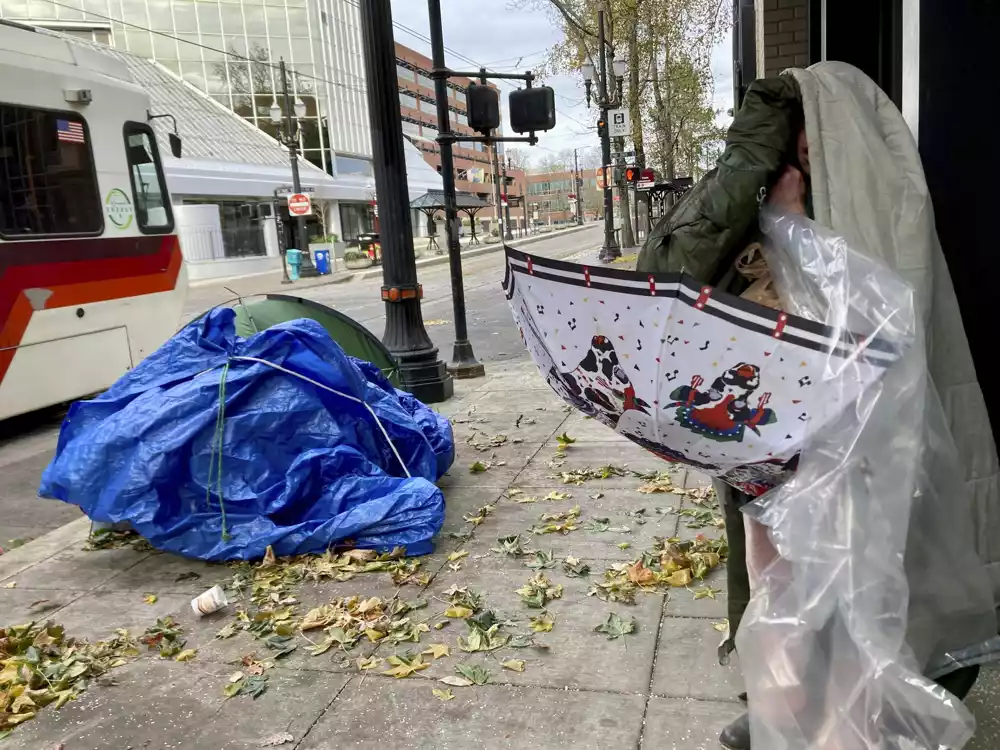
M 531 252 L 553 258 L 594 256 L 602 233 L 598 225 L 572 234 L 532 243 Z M 516 245 L 516 243 L 515 243 Z M 500 284 L 503 253 L 466 259 L 465 298 L 469 338 L 476 356 L 487 367 L 491 362 L 527 357 L 514 326 Z M 451 280 L 447 264 L 419 269 L 424 286 L 423 316 L 431 340 L 446 362 L 455 341 Z M 235 280 L 229 286 L 246 293 L 249 282 Z M 385 303 L 379 292 L 381 279 L 348 281 L 324 286 L 297 287 L 292 293 L 308 297 L 344 312 L 364 323 L 381 337 L 385 328 Z M 255 291 L 289 293 L 288 287 Z M 231 297 L 221 285 L 193 288 L 184 319 L 188 320 L 213 304 Z M 0 549 L 12 540 L 31 539 L 79 517 L 79 510 L 55 500 L 37 497 L 39 479 L 55 452 L 59 425 L 65 407 L 52 407 L 33 414 L 0 421 Z

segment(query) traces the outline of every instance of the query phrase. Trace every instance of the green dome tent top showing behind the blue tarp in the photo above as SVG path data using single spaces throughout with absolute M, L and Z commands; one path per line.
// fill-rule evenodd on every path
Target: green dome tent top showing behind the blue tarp
M 287 294 L 240 297 L 233 301 L 236 333 L 247 338 L 265 328 L 298 318 L 309 318 L 323 326 L 340 348 L 352 357 L 378 367 L 397 388 L 402 388 L 396 360 L 375 335 L 342 312 L 312 300 Z

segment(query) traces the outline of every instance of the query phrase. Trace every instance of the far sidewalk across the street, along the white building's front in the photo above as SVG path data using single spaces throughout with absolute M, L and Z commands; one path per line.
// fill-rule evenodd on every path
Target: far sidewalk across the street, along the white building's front
M 569 229 L 560 229 L 554 232 L 534 234 L 530 237 L 512 240 L 510 244 L 514 247 L 521 247 L 524 245 L 530 246 L 536 242 L 547 240 L 552 237 L 560 237 L 567 234 L 573 234 L 574 232 L 584 231 L 589 229 L 591 226 L 592 225 L 590 224 L 585 224 L 582 227 L 570 227 Z M 425 244 L 425 242 L 420 242 L 418 240 L 417 249 L 423 253 L 422 257 L 417 258 L 416 261 L 418 269 L 426 268 L 428 266 L 437 266 L 448 262 L 448 254 L 446 252 L 443 252 L 441 255 L 435 255 L 433 253 L 431 255 L 427 255 L 424 250 Z M 442 248 L 443 247 L 444 245 L 442 244 Z M 463 245 L 462 258 L 475 258 L 480 255 L 487 255 L 501 250 L 503 250 L 502 242 L 471 246 Z M 229 289 L 232 289 L 244 297 L 249 297 L 255 294 L 269 293 L 294 295 L 298 294 L 303 289 L 382 277 L 381 266 L 372 266 L 371 268 L 350 271 L 343 268 L 343 261 L 339 261 L 338 263 L 338 267 L 340 267 L 341 270 L 336 273 L 327 274 L 325 276 L 315 276 L 308 279 L 299 279 L 293 284 L 281 283 L 282 273 L 280 269 L 270 271 L 268 273 L 253 274 L 250 276 L 237 276 L 235 278 L 228 279 L 207 279 L 204 281 L 192 282 L 188 289 L 187 301 L 184 308 L 185 312 L 183 315 L 184 320 L 182 322 L 187 323 L 192 318 L 205 312 L 205 310 L 231 300 L 234 295 L 229 291 Z M 229 289 L 226 287 L 229 287 Z

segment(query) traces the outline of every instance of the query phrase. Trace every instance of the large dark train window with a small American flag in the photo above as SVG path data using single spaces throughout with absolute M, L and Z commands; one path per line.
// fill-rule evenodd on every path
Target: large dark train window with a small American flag
M 103 230 L 84 119 L 73 112 L 0 104 L 0 236 Z

